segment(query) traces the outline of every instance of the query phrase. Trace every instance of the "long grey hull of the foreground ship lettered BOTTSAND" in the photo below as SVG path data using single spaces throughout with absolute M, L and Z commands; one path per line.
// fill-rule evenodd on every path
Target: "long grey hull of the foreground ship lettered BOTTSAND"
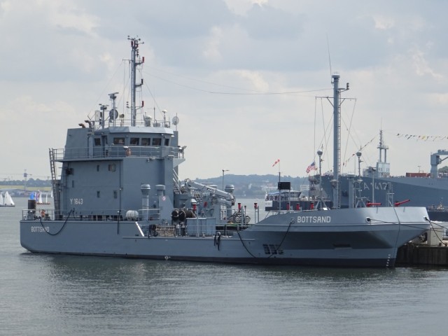
M 393 267 L 398 247 L 428 230 L 424 208 L 293 211 L 233 235 L 148 237 L 143 222 L 20 221 L 34 253 L 263 265 Z M 367 221 L 370 218 L 370 221 Z M 388 218 L 386 223 L 384 220 Z M 394 221 L 389 221 L 395 218 Z M 415 223 L 410 218 L 420 218 Z M 412 219 L 414 221 L 414 219 Z M 190 224 L 191 225 L 191 224 Z

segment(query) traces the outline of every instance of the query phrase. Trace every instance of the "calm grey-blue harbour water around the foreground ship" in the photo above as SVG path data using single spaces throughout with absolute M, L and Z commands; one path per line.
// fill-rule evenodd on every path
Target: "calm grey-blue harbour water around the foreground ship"
M 444 335 L 447 328 L 448 269 L 33 255 L 19 239 L 27 200 L 15 202 L 0 208 L 0 335 Z

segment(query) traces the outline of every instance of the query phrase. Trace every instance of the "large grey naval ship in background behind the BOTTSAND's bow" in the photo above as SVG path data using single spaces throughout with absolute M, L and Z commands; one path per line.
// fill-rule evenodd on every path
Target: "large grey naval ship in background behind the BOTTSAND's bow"
M 339 176 L 341 207 L 349 207 L 351 202 L 386 207 L 409 203 L 413 207 L 426 207 L 430 221 L 448 222 L 448 207 L 445 205 L 448 202 L 448 175 L 438 172 L 438 165 L 448 158 L 448 151 L 438 150 L 430 155 L 430 174 L 408 172 L 405 176 L 391 176 L 391 166 L 387 162 L 388 146 L 384 143 L 382 130 L 379 131 L 377 148 L 379 159 L 375 167 L 367 167 L 361 173 L 362 153 L 358 151 L 358 174 Z M 318 184 L 320 178 L 315 176 L 311 179 Z M 324 195 L 332 200 L 333 176 L 324 174 L 321 183 Z

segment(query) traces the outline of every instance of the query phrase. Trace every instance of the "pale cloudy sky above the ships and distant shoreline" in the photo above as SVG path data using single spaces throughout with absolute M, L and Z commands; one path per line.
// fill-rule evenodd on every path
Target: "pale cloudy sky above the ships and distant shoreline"
M 375 165 L 380 129 L 391 174 L 429 172 L 448 148 L 446 13 L 442 0 L 0 0 L 0 181 L 49 178 L 48 149 L 123 92 L 127 36 L 144 42 L 144 112 L 180 120 L 181 179 L 307 176 L 319 148 L 331 170 L 332 73 L 349 83 L 342 172 L 359 150 Z

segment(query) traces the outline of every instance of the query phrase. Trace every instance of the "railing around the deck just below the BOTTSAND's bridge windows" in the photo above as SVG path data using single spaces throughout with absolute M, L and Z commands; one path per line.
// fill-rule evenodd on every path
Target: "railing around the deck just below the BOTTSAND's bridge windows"
M 181 148 L 172 146 L 108 146 L 103 147 L 81 147 L 81 148 L 59 148 L 54 149 L 53 160 L 89 160 L 101 158 L 125 158 L 125 157 L 144 157 L 144 158 L 183 158 Z

